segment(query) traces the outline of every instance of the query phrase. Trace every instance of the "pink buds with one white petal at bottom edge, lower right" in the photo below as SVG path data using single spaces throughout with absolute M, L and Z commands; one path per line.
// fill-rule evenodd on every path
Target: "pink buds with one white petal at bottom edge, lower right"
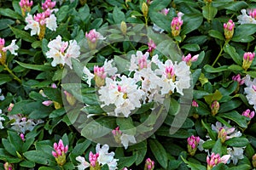
M 226 164 L 229 159 L 230 155 L 220 157 L 219 154 L 212 153 L 211 156 L 207 156 L 207 170 L 211 170 L 212 167 L 215 167 L 218 163 Z

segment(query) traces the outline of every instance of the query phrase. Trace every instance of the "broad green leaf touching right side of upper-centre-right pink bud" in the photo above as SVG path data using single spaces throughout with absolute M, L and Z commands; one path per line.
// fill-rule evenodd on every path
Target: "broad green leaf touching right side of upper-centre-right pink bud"
M 199 28 L 199 26 L 201 26 L 202 22 L 203 17 L 201 16 L 201 14 L 185 14 L 183 16 L 183 26 L 181 35 L 185 35 L 191 31 L 196 30 L 197 28 Z

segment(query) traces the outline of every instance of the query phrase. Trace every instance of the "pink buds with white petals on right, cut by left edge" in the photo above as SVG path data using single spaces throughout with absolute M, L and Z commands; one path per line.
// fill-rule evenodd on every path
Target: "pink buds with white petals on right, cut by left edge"
M 7 50 L 9 50 L 11 54 L 17 55 L 15 50 L 17 50 L 19 47 L 15 44 L 15 42 L 16 40 L 12 40 L 9 46 L 4 47 L 5 40 L 3 38 L 0 38 L 0 64 L 5 65 Z

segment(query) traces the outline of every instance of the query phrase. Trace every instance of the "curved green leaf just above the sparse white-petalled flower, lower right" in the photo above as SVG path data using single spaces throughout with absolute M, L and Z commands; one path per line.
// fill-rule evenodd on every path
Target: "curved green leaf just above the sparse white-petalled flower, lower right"
M 236 124 L 240 127 L 247 128 L 247 118 L 246 116 L 242 116 L 237 111 L 230 111 L 228 113 L 219 114 L 218 116 L 228 118 L 231 121 L 236 122 Z

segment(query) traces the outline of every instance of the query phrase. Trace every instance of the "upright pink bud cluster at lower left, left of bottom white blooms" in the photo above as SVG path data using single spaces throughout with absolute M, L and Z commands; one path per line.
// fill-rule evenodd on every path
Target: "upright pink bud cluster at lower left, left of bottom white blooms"
M 55 156 L 55 161 L 57 161 L 58 165 L 62 166 L 66 162 L 66 153 L 68 150 L 68 145 L 64 146 L 62 140 L 59 140 L 59 143 L 54 144 L 54 150 L 52 151 L 52 155 Z

